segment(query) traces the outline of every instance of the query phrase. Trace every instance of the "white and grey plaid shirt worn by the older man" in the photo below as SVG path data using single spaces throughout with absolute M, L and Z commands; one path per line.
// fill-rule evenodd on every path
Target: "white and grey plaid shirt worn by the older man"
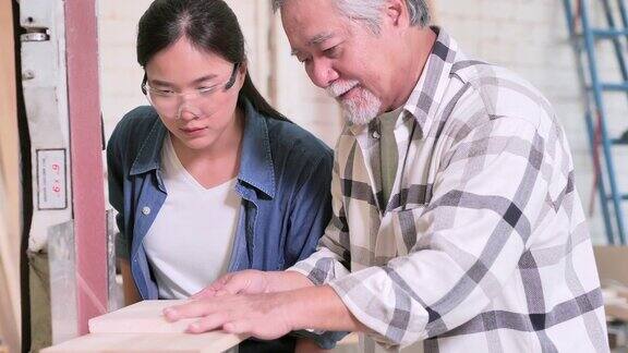
M 335 150 L 333 221 L 291 270 L 372 331 L 364 352 L 607 352 L 573 165 L 552 107 L 444 31 L 395 129 L 382 197 L 378 122 Z M 378 344 L 375 344 L 378 343 Z

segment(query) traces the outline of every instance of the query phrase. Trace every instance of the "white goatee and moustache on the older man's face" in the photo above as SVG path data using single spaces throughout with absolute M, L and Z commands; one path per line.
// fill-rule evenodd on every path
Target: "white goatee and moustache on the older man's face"
M 373 93 L 363 87 L 358 87 L 358 95 L 352 98 L 340 99 L 339 96 L 358 86 L 360 82 L 336 81 L 326 90 L 336 98 L 342 107 L 345 118 L 355 125 L 364 125 L 375 119 L 382 108 L 382 101 Z

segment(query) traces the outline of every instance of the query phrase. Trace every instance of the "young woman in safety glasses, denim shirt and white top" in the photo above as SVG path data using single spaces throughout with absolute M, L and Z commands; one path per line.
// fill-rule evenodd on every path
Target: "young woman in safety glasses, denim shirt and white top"
M 333 155 L 257 93 L 228 5 L 155 1 L 137 61 L 150 106 L 125 114 L 107 147 L 126 304 L 307 257 L 330 217 Z M 294 341 L 240 352 L 291 352 Z

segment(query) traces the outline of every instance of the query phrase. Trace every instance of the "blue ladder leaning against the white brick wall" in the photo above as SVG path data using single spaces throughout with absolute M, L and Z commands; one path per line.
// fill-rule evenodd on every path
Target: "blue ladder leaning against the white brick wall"
M 592 25 L 591 5 L 595 2 L 603 11 L 604 27 Z M 617 181 L 614 149 L 628 146 L 628 130 L 611 137 L 608 111 L 604 99 L 607 93 L 625 93 L 628 97 L 628 11 L 624 0 L 563 0 L 571 44 L 576 52 L 578 74 L 584 89 L 584 120 L 591 145 L 595 170 L 594 188 L 600 198 L 604 228 L 608 244 L 626 245 L 626 219 L 623 202 L 628 194 L 621 193 Z M 611 41 L 617 65 L 619 82 L 605 82 L 600 72 L 597 44 Z M 628 118 L 624 120 L 628 127 Z M 628 163 L 628 160 L 624 163 Z

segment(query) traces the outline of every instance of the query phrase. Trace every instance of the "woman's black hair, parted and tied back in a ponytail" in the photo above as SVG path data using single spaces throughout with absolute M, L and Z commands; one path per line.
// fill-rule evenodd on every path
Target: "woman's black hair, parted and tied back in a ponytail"
M 235 14 L 222 0 L 156 0 L 137 28 L 137 62 L 142 68 L 159 51 L 185 37 L 192 46 L 222 57 L 235 66 L 246 62 L 244 35 Z M 262 114 L 288 120 L 259 94 L 246 72 L 239 104 L 246 98 Z

